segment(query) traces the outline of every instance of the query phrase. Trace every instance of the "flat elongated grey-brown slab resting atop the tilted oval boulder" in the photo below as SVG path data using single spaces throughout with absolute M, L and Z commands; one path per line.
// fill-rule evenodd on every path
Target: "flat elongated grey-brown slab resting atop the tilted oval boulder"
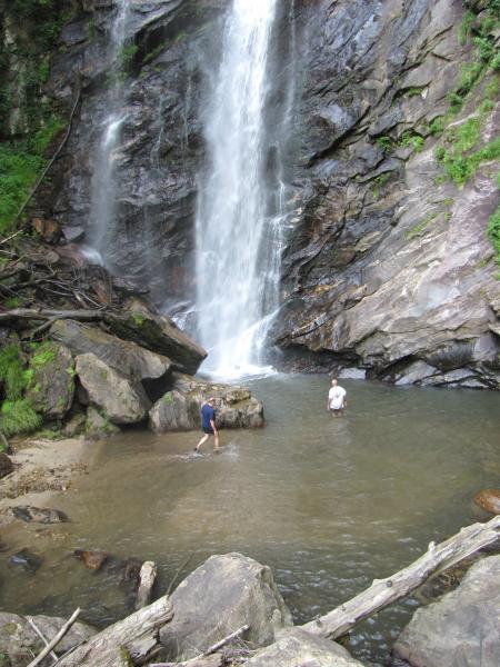
M 58 320 L 52 325 L 50 336 L 63 342 L 74 355 L 92 352 L 101 361 L 136 381 L 162 378 L 172 365 L 168 357 L 74 320 Z

